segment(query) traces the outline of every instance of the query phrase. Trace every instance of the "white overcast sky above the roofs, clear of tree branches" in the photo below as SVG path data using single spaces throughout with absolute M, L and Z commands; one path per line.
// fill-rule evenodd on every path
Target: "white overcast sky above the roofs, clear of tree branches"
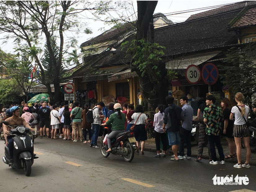
M 158 4 L 156 6 L 154 13 L 172 13 L 176 11 L 186 11 L 191 9 L 198 9 L 203 7 L 209 7 L 209 6 L 216 6 L 216 5 L 223 5 L 228 3 L 234 3 L 239 1 L 158 1 Z M 137 4 L 136 1 L 133 2 L 134 8 L 136 11 Z M 207 9 L 209 10 L 209 9 Z M 185 21 L 190 15 L 200 13 L 203 11 L 194 11 L 184 14 L 178 14 L 178 15 L 171 15 L 167 16 L 168 19 L 172 20 L 173 22 L 183 22 Z M 105 27 L 105 29 L 110 29 L 111 26 L 104 25 L 104 22 L 102 21 L 93 21 L 93 20 L 87 20 L 88 27 L 91 28 L 92 34 L 80 34 L 78 37 L 78 46 L 80 46 L 83 42 L 88 41 L 92 37 L 96 37 L 102 33 L 100 28 Z M 71 36 L 74 34 L 70 34 Z M 9 40 L 7 44 L 1 44 L 1 49 L 6 52 L 13 52 L 13 43 L 12 40 Z M 78 50 L 78 53 L 80 50 Z

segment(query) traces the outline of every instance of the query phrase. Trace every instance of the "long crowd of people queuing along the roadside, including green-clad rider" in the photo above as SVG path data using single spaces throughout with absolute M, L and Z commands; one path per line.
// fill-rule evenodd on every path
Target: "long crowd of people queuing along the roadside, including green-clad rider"
M 243 103 L 244 96 L 238 92 L 235 95 L 236 106 L 231 105 L 227 98 L 221 100 L 221 107 L 216 105 L 216 98 L 207 94 L 205 101 L 198 107 L 197 118 L 199 120 L 199 143 L 198 155 L 195 161 L 202 160 L 203 145 L 208 140 L 208 154 L 210 164 L 217 165 L 217 155 L 215 146 L 218 149 L 220 164 L 225 164 L 225 159 L 237 158 L 238 162 L 235 168 L 250 168 L 250 146 L 249 146 L 249 129 L 246 122 L 249 116 L 249 107 Z M 174 97 L 167 96 L 165 99 L 168 106 L 159 104 L 159 112 L 154 115 L 155 127 L 155 145 L 157 154 L 154 157 L 166 157 L 167 145 L 171 146 L 173 156 L 171 161 L 179 161 L 180 159 L 191 159 L 191 130 L 193 121 L 193 108 L 188 104 L 187 96 L 180 97 L 182 108 L 174 104 Z M 91 143 L 90 147 L 98 148 L 97 139 L 102 127 L 105 127 L 103 137 L 107 135 L 108 152 L 111 151 L 111 139 L 117 134 L 123 133 L 130 129 L 134 130 L 134 136 L 141 155 L 144 153 L 145 141 L 147 134 L 145 125 L 148 123 L 147 116 L 144 113 L 142 105 L 124 103 L 110 103 L 109 111 L 104 115 L 102 109 L 105 107 L 103 102 L 99 102 L 96 106 L 91 107 L 88 104 L 79 106 L 79 102 L 65 105 L 64 102 L 52 104 L 52 102 L 41 101 L 34 104 L 26 104 L 22 101 L 20 106 L 6 105 L 3 113 L 0 114 L 0 122 L 17 118 L 21 124 L 29 127 L 28 123 L 34 118 L 32 125 L 35 133 L 40 132 L 40 139 L 73 140 L 74 142 Z M 92 122 L 87 121 L 87 114 L 92 111 Z M 256 109 L 254 109 L 256 112 Z M 12 120 L 13 121 L 13 120 Z M 15 122 L 14 121 L 14 122 Z M 13 122 L 13 123 L 14 123 Z M 29 127 L 30 128 L 30 127 Z M 7 127 L 4 129 L 7 133 Z M 87 133 L 88 140 L 87 140 Z M 57 137 L 57 134 L 60 134 Z M 227 156 L 223 154 L 221 145 L 221 134 L 224 134 L 228 142 L 230 153 Z M 206 139 L 207 137 L 207 139 Z M 246 148 L 246 161 L 241 162 L 241 138 L 244 140 Z M 10 143 L 11 141 L 9 141 Z M 186 143 L 186 155 L 184 144 Z M 8 142 L 7 142 L 8 144 Z M 162 147 L 160 147 L 162 145 Z M 162 153 L 160 153 L 162 148 Z

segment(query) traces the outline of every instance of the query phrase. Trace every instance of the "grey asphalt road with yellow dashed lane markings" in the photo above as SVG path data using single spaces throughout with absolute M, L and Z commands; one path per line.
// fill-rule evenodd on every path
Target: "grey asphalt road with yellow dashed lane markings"
M 4 155 L 3 140 L 0 140 L 0 156 Z M 121 156 L 101 156 L 99 148 L 89 143 L 63 139 L 35 139 L 34 151 L 39 156 L 34 161 L 32 173 L 26 177 L 23 170 L 11 169 L 0 162 L 0 191 L 31 192 L 252 192 L 256 191 L 256 168 L 235 169 L 233 164 L 210 165 L 209 160 L 170 161 L 154 158 L 152 152 L 135 153 L 131 163 Z M 248 185 L 213 185 L 213 177 L 247 176 Z M 247 189 L 247 190 L 242 190 Z

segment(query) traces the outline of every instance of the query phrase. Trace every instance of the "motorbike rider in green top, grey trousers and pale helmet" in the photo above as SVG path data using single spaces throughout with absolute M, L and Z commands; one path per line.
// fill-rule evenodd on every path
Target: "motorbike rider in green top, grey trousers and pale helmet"
M 115 138 L 117 134 L 125 132 L 124 123 L 126 121 L 126 117 L 125 117 L 125 114 L 121 112 L 121 109 L 122 109 L 121 104 L 116 103 L 114 105 L 114 109 L 115 109 L 115 113 L 110 115 L 109 120 L 106 123 L 101 124 L 101 126 L 106 126 L 112 123 L 112 127 L 111 127 L 112 131 L 107 136 L 107 142 L 108 142 L 107 152 L 111 151 L 111 139 Z

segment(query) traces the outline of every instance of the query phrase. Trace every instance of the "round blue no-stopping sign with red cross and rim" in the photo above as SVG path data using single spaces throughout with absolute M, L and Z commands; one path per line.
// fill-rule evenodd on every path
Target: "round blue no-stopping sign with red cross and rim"
M 218 81 L 219 71 L 213 63 L 206 63 L 202 69 L 202 79 L 204 83 L 213 85 Z

